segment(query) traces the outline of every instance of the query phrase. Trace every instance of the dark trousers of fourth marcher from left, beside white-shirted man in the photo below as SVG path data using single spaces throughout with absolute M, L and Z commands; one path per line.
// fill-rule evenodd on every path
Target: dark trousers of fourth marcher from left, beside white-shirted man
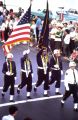
M 60 88 L 61 84 L 61 70 L 53 70 L 52 71 L 52 76 L 51 76 L 51 81 L 49 84 L 53 84 L 56 81 L 55 88 Z

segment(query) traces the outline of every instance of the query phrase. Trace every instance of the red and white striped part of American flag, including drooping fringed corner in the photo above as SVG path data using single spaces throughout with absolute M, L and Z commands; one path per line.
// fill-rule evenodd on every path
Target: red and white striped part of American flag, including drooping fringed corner
M 18 42 L 30 41 L 30 24 L 17 25 L 8 40 L 2 46 L 5 56 L 11 51 L 13 45 Z

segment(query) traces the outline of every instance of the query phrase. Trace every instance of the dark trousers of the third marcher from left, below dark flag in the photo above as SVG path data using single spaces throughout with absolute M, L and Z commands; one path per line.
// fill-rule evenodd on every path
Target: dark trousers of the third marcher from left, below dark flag
M 44 71 L 38 69 L 38 81 L 36 83 L 36 87 L 40 86 L 44 81 L 44 90 L 48 90 L 48 80 L 49 80 L 49 73 L 44 74 Z

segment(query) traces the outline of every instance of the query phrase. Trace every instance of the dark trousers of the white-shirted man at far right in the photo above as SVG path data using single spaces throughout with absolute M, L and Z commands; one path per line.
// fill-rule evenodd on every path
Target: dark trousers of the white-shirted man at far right
M 69 84 L 69 91 L 65 91 L 63 96 L 63 100 L 65 101 L 71 94 L 73 94 L 74 103 L 78 103 L 78 96 L 77 96 L 77 85 Z

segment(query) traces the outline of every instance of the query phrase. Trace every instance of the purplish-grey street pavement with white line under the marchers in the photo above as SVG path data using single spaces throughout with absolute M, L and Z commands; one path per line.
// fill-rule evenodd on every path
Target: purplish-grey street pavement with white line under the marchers
M 1 96 L 2 86 L 3 86 L 3 73 L 2 66 L 5 61 L 5 56 L 2 48 L 0 47 L 0 120 L 3 115 L 8 114 L 8 107 L 10 105 L 16 105 L 19 109 L 16 120 L 23 120 L 24 117 L 30 116 L 32 120 L 78 120 L 78 113 L 73 111 L 73 97 L 66 101 L 64 108 L 61 108 L 61 98 L 64 93 L 64 75 L 62 75 L 61 80 L 61 95 L 55 95 L 55 83 L 50 86 L 48 91 L 49 97 L 43 97 L 43 85 L 38 87 L 37 93 L 34 93 L 32 89 L 31 100 L 26 98 L 26 87 L 21 90 L 20 95 L 17 94 L 17 85 L 21 82 L 20 80 L 20 58 L 23 56 L 23 51 L 27 49 L 26 44 L 16 45 L 12 49 L 14 55 L 14 61 L 17 68 L 17 80 L 15 81 L 15 102 L 9 102 L 9 90 L 7 91 L 4 98 Z M 37 81 L 37 63 L 36 54 L 38 49 L 35 47 L 30 47 L 29 57 L 32 61 L 34 77 L 33 77 L 33 88 Z M 64 72 L 68 69 L 68 62 L 63 60 L 63 70 Z

